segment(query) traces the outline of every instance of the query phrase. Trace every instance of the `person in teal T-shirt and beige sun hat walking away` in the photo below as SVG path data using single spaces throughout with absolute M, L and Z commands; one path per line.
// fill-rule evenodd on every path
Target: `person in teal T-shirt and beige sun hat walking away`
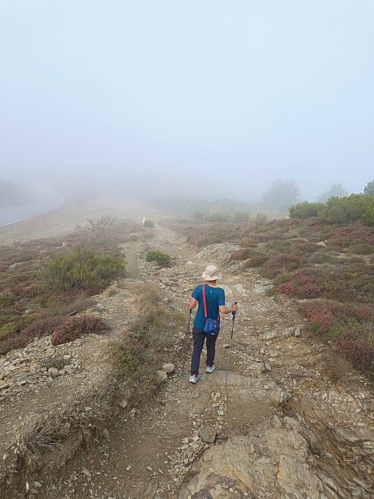
M 193 308 L 198 302 L 198 308 L 193 321 L 193 351 L 191 359 L 190 383 L 196 383 L 198 368 L 200 366 L 200 356 L 206 338 L 206 373 L 212 373 L 215 369 L 214 354 L 215 342 L 219 332 L 219 313 L 226 314 L 236 312 L 237 305 L 226 307 L 225 292 L 216 285 L 217 279 L 222 279 L 222 274 L 218 272 L 215 265 L 208 265 L 201 277 L 204 284 L 195 287 L 189 298 L 189 308 Z M 204 306 L 204 295 L 205 304 Z M 205 328 L 205 331 L 204 331 Z M 210 328 L 210 329 L 209 329 Z

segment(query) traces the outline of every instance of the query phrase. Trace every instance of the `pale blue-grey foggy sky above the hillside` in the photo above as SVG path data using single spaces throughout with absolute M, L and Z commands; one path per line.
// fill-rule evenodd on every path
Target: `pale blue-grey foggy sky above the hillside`
M 0 0 L 0 176 L 361 191 L 373 25 L 373 0 Z

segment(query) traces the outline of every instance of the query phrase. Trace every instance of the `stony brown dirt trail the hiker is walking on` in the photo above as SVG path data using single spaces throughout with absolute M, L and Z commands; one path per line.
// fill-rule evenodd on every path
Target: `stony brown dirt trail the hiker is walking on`
M 50 469 L 43 466 L 33 476 L 18 477 L 20 484 L 28 484 L 28 491 L 23 486 L 25 496 L 374 497 L 374 397 L 368 379 L 350 372 L 335 380 L 337 358 L 331 347 L 304 332 L 296 302 L 267 297 L 270 281 L 229 260 L 238 247 L 224 243 L 196 252 L 165 226 L 158 226 L 155 234 L 152 247 L 172 254 L 173 265 L 160 269 L 145 262 L 146 244 L 124 244 L 129 277 L 116 283 L 118 294 L 100 295 L 90 312 L 103 316 L 115 336 L 134 316 L 131 303 L 137 285 L 152 281 L 162 288 L 168 306 L 184 311 L 187 320 L 190 292 L 204 267 L 216 264 L 223 273 L 220 285 L 226 303 L 239 303 L 227 387 L 231 314 L 222 321 L 217 338 L 216 370 L 205 374 L 202 369 L 195 386 L 188 383 L 191 337 L 187 376 L 181 376 L 185 330 L 179 328 L 165 349 L 160 366 L 163 382 L 155 397 L 140 404 L 124 398 L 115 417 L 85 448 L 71 444 L 71 454 L 76 451 L 71 459 L 61 451 Z M 0 373 L 9 373 L 9 366 L 14 366 L 11 377 L 5 375 L 0 381 L 7 384 L 0 397 L 0 423 L 6 421 L 0 428 L 3 441 L 32 408 L 47 410 L 41 409 L 42 400 L 57 406 L 82 385 L 100 383 L 108 374 L 102 355 L 106 341 L 105 336 L 87 336 L 52 348 L 42 338 L 0 357 Z M 56 355 L 56 348 L 70 364 L 63 372 L 41 371 L 38 355 L 41 351 L 44 356 Z M 201 368 L 203 355 L 204 351 Z M 19 385 L 14 371 L 33 374 Z M 52 401 L 51 393 L 55 393 Z M 85 409 L 89 417 L 91 408 Z

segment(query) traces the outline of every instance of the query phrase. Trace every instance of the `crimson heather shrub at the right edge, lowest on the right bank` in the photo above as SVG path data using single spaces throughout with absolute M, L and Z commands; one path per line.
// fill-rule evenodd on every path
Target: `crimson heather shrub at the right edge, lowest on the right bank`
M 374 345 L 360 338 L 355 328 L 346 329 L 342 332 L 336 350 L 342 352 L 346 359 L 352 362 L 362 373 L 374 372 Z

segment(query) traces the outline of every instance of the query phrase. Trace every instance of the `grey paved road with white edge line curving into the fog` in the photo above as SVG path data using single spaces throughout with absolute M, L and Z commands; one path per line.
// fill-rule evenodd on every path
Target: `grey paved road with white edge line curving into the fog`
M 0 228 L 46 213 L 63 202 L 63 196 L 56 191 L 39 188 L 32 201 L 0 209 Z

